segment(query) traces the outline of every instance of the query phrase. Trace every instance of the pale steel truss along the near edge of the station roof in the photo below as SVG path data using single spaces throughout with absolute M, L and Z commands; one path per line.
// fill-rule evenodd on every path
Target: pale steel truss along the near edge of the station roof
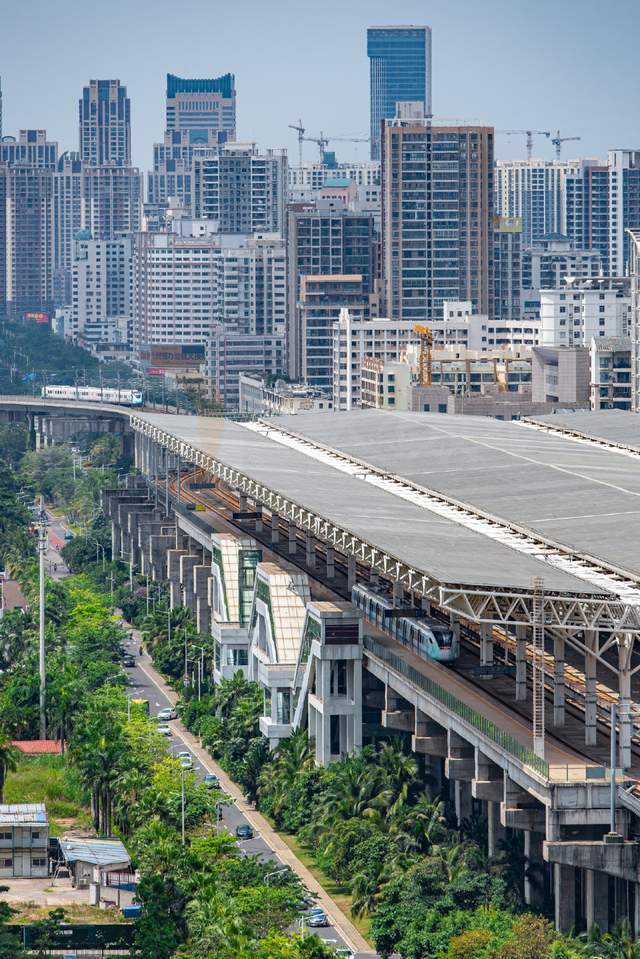
M 494 586 L 466 586 L 441 583 L 423 570 L 403 563 L 398 557 L 373 546 L 349 530 L 337 526 L 331 520 L 294 502 L 281 493 L 227 466 L 209 453 L 148 423 L 136 414 L 130 415 L 131 427 L 148 437 L 152 442 L 180 455 L 183 460 L 216 476 L 239 493 L 298 529 L 311 533 L 319 542 L 325 543 L 353 557 L 388 579 L 401 583 L 405 589 L 433 600 L 439 606 L 458 613 L 478 623 L 490 623 L 513 628 L 516 625 L 533 629 L 534 590 L 503 589 Z M 579 633 L 588 630 L 606 631 L 616 635 L 626 634 L 627 642 L 633 643 L 640 635 L 640 608 L 627 605 L 610 594 L 544 593 L 544 622 L 548 628 L 563 633 Z M 572 637 L 573 643 L 587 651 L 584 645 Z M 609 644 L 612 638 L 609 637 Z M 592 652 L 592 649 L 588 650 Z

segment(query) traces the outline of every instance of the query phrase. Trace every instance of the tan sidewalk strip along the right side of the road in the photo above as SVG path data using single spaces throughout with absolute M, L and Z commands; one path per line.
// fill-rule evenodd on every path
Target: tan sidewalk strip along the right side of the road
M 140 638 L 138 630 L 133 630 L 136 639 Z M 178 694 L 165 682 L 151 662 L 151 659 L 145 652 L 139 657 L 138 665 L 147 678 L 170 700 L 174 705 L 178 701 Z M 187 744 L 191 752 L 198 758 L 198 761 L 208 771 L 215 773 L 220 780 L 224 791 L 234 800 L 236 806 L 244 814 L 247 821 L 253 826 L 256 832 L 259 832 L 265 842 L 271 847 L 283 865 L 296 873 L 307 889 L 314 893 L 318 905 L 322 906 L 324 911 L 330 917 L 333 927 L 348 943 L 354 953 L 361 956 L 375 956 L 376 953 L 362 934 L 356 929 L 352 922 L 345 916 L 342 910 L 336 905 L 331 897 L 325 892 L 318 880 L 309 872 L 307 867 L 300 862 L 295 854 L 289 849 L 287 844 L 280 838 L 269 822 L 257 810 L 246 801 L 239 787 L 229 779 L 225 771 L 211 758 L 209 753 L 202 748 L 199 740 L 189 732 L 180 720 L 174 725 L 180 737 Z

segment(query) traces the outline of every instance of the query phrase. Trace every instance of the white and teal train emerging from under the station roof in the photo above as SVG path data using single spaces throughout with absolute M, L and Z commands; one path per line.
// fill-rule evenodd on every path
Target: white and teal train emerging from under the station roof
M 447 625 L 431 617 L 386 617 L 384 610 L 393 609 L 391 597 L 374 592 L 363 583 L 356 583 L 353 587 L 351 602 L 362 610 L 371 623 L 419 656 L 439 663 L 451 663 L 460 655 L 460 639 Z

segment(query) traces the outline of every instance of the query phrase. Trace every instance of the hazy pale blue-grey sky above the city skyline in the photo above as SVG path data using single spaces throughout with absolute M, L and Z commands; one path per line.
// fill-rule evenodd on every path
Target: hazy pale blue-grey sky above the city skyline
M 433 29 L 436 116 L 565 136 L 564 155 L 640 147 L 638 0 L 0 0 L 4 133 L 44 127 L 77 149 L 78 97 L 89 78 L 126 83 L 133 158 L 151 166 L 162 139 L 165 74 L 236 75 L 238 138 L 297 158 L 298 117 L 311 135 L 366 136 L 369 24 Z M 343 159 L 367 144 L 335 144 Z M 524 137 L 497 155 L 524 157 Z M 305 158 L 316 156 L 305 144 Z M 551 158 L 548 140 L 536 155 Z

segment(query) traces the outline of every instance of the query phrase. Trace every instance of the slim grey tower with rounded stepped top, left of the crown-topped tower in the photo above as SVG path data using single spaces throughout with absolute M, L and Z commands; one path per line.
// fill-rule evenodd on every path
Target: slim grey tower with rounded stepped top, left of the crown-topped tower
M 131 163 L 131 104 L 119 80 L 90 80 L 79 104 L 80 159 L 91 166 Z

